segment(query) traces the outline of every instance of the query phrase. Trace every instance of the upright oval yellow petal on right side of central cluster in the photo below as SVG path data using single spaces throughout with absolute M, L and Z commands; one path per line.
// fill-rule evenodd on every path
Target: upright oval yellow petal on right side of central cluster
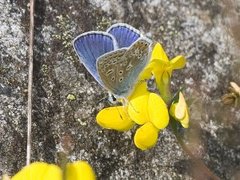
M 155 93 L 150 93 L 149 95 L 148 114 L 150 121 L 158 129 L 165 128 L 169 123 L 167 105 L 162 98 Z

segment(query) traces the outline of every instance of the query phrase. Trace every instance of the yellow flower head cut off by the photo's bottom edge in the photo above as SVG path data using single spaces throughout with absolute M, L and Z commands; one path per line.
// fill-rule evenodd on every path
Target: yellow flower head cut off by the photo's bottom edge
M 68 163 L 66 167 L 66 180 L 95 180 L 92 167 L 85 161 Z M 60 167 L 45 162 L 34 162 L 24 167 L 12 180 L 62 180 L 63 172 Z

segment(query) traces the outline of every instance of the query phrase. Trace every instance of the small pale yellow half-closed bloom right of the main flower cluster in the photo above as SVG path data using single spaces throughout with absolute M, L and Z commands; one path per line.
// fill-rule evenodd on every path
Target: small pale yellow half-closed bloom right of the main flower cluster
M 170 115 L 177 121 L 179 121 L 184 128 L 189 126 L 189 114 L 187 103 L 183 97 L 183 94 L 179 93 L 179 98 L 176 102 L 173 102 L 170 107 Z

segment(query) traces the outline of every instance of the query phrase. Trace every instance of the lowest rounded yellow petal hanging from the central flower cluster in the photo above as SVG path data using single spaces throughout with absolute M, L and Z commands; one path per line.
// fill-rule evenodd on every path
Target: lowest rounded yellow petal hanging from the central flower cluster
M 134 143 L 141 150 L 155 146 L 157 139 L 158 129 L 151 122 L 147 122 L 138 128 L 134 135 Z

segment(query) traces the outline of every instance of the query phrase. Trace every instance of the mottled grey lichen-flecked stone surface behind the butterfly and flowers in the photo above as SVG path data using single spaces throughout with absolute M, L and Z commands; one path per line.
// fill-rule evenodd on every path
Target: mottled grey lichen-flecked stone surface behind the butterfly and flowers
M 221 3 L 36 0 L 32 161 L 56 163 L 56 153 L 69 144 L 70 160 L 89 161 L 99 179 L 192 179 L 201 174 L 191 169 L 170 128 L 160 133 L 156 147 L 142 152 L 133 144 L 134 129 L 119 133 L 96 124 L 97 112 L 108 105 L 100 102 L 107 93 L 79 63 L 71 41 L 82 32 L 125 22 L 161 42 L 170 58 L 186 56 L 186 68 L 174 72 L 172 83 L 173 90 L 185 85 L 191 104 L 186 141 L 221 179 L 236 177 L 239 108 L 225 107 L 220 97 L 230 81 L 240 84 L 240 63 Z M 27 4 L 0 0 L 0 176 L 25 165 Z M 76 100 L 68 100 L 69 94 Z

